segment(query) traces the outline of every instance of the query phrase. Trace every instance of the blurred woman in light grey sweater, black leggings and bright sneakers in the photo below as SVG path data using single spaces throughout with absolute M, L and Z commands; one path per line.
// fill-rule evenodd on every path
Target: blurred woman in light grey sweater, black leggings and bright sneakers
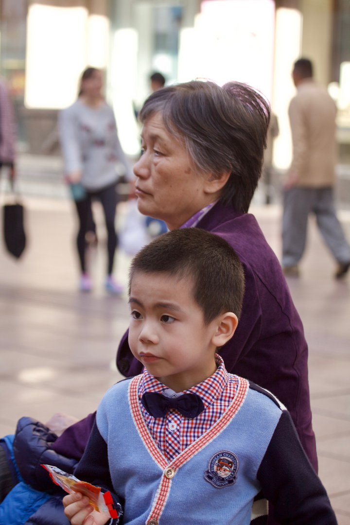
M 81 267 L 79 288 L 90 291 L 92 282 L 86 265 L 86 234 L 93 229 L 91 199 L 99 199 L 103 206 L 108 233 L 108 268 L 105 288 L 120 293 L 122 287 L 113 278 L 114 253 L 117 245 L 114 220 L 117 203 L 116 162 L 121 161 L 128 175 L 132 172 L 121 148 L 113 110 L 102 93 L 102 73 L 87 68 L 81 77 L 78 100 L 60 112 L 59 130 L 66 178 L 72 190 L 79 216 L 77 238 Z

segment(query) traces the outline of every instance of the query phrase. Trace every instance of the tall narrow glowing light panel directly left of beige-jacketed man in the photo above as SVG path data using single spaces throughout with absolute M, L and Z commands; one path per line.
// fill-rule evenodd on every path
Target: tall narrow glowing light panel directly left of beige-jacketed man
M 273 163 L 280 169 L 287 169 L 292 160 L 288 107 L 296 92 L 292 70 L 293 63 L 300 57 L 301 35 L 302 14 L 296 9 L 277 9 L 272 110 L 277 115 L 280 130 L 274 142 Z

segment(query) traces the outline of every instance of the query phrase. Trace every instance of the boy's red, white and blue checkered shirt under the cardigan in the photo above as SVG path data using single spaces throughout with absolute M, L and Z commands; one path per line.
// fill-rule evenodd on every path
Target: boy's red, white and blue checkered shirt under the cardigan
M 227 372 L 224 361 L 218 354 L 216 354 L 216 362 L 218 368 L 213 375 L 199 383 L 199 385 L 195 385 L 181 393 L 197 394 L 203 401 L 204 411 L 193 419 L 184 417 L 173 408 L 164 417 L 155 418 L 151 416 L 142 405 L 141 397 L 145 392 L 164 394 L 164 392 L 168 393 L 169 389 L 163 383 L 157 381 L 146 369 L 143 371 L 143 377 L 139 386 L 141 411 L 152 438 L 168 461 L 172 461 L 213 426 L 225 412 L 236 394 L 238 386 L 236 376 Z

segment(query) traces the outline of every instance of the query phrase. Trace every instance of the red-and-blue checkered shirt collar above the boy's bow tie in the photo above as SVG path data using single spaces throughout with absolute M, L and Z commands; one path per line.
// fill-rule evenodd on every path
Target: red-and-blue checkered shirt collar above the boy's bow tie
M 225 368 L 224 361 L 219 354 L 215 355 L 215 361 L 218 367 L 213 375 L 198 385 L 192 386 L 188 390 L 184 390 L 180 394 L 197 394 L 200 396 L 206 408 L 212 405 L 221 395 L 228 382 L 228 372 Z M 155 379 L 155 377 L 147 372 L 146 369 L 143 371 L 141 383 L 139 386 L 140 399 L 145 392 L 158 392 L 161 394 L 165 393 L 167 396 L 173 395 L 173 391 L 171 391 L 170 388 Z

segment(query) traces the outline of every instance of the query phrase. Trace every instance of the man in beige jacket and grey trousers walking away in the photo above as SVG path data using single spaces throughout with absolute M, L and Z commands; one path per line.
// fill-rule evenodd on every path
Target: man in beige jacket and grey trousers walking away
M 313 80 L 310 60 L 295 62 L 293 81 L 298 94 L 289 106 L 293 160 L 284 186 L 282 267 L 284 275 L 299 275 L 307 217 L 313 212 L 337 261 L 335 277 L 340 279 L 350 267 L 350 246 L 333 202 L 336 107 L 326 88 Z

